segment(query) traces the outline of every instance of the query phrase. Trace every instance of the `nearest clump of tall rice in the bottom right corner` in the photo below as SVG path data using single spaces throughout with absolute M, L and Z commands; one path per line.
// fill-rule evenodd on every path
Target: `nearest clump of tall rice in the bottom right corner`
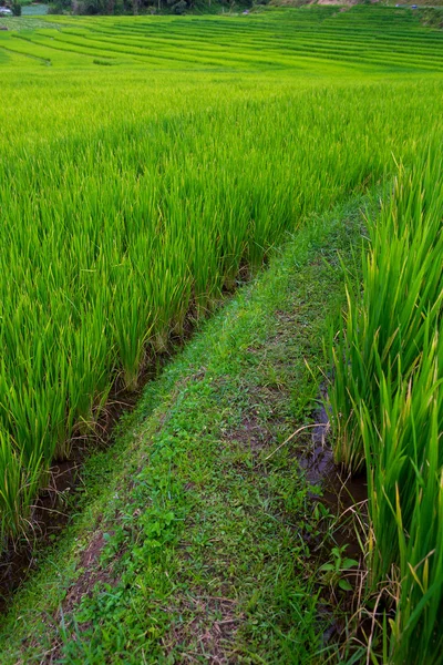
M 388 584 L 394 665 L 439 663 L 443 610 L 443 344 L 435 334 L 409 381 L 392 395 L 381 375 L 380 413 L 361 405 L 368 470 L 370 583 Z M 380 424 L 379 424 L 380 422 Z

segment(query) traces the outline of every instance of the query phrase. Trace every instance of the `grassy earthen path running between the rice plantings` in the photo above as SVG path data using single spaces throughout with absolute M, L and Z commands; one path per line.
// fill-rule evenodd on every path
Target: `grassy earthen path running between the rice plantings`
M 310 421 L 306 361 L 323 364 L 362 205 L 312 219 L 147 385 L 86 466 L 85 513 L 3 620 L 2 664 L 323 662 L 310 434 L 269 454 Z

